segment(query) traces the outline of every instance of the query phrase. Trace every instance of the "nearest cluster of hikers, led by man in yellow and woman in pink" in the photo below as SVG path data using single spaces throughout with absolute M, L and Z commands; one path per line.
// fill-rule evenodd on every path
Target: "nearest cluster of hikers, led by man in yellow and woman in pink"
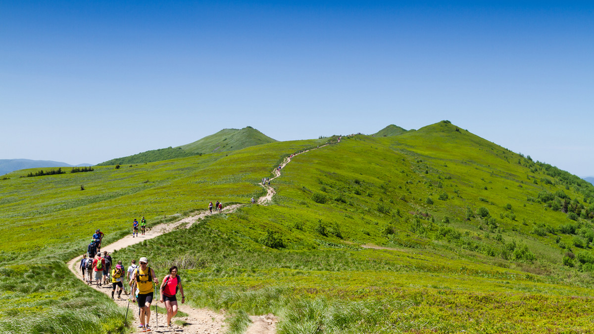
M 138 304 L 138 315 L 140 325 L 139 332 L 151 332 L 149 320 L 151 316 L 150 306 L 154 298 L 159 298 L 159 302 L 165 304 L 167 309 L 167 326 L 171 326 L 171 318 L 178 313 L 177 292 L 181 292 L 182 303 L 185 303 L 184 288 L 182 287 L 181 277 L 178 275 L 178 268 L 172 266 L 169 268 L 169 274 L 163 278 L 157 294 L 159 279 L 153 268 L 148 266 L 147 257 L 141 257 L 140 265 L 136 265 L 136 260 L 131 260 L 127 271 L 124 271 L 122 261 L 119 260 L 112 268 L 113 259 L 107 251 L 103 255 L 99 252 L 91 256 L 84 254 L 80 261 L 79 269 L 83 275 L 83 281 L 89 285 L 96 281 L 97 287 L 108 287 L 110 281 L 112 287 L 112 300 L 115 300 L 115 292 L 118 292 L 118 299 L 122 299 L 122 291 L 129 295 L 132 303 Z M 111 269 L 111 270 L 110 270 Z M 88 279 L 87 279 L 88 277 Z M 126 286 L 130 289 L 128 292 Z

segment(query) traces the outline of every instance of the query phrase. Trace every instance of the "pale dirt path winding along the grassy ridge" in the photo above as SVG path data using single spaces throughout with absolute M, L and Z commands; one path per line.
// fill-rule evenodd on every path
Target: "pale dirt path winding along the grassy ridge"
M 327 145 L 328 144 L 320 146 L 318 148 L 322 148 Z M 309 152 L 309 150 L 300 151 L 296 154 L 292 154 L 289 157 L 286 157 L 285 160 L 283 160 L 283 163 L 280 164 L 280 169 L 285 168 L 285 166 L 291 161 L 291 159 L 293 157 L 295 157 L 296 155 L 299 155 L 299 154 L 303 154 L 305 152 Z M 274 180 L 280 176 L 280 169 L 274 168 L 273 173 L 275 176 L 272 177 L 270 180 Z M 271 187 L 270 185 L 268 185 L 267 183 L 266 184 L 260 183 L 260 186 L 264 187 L 264 189 L 266 189 L 267 192 L 266 192 L 266 195 L 262 196 L 261 198 L 259 198 L 257 200 L 257 203 L 260 205 L 268 205 L 272 202 L 272 198 L 273 198 L 274 194 L 276 194 L 276 191 L 274 191 L 274 188 Z M 222 212 L 231 213 L 231 212 L 234 212 L 236 209 L 241 208 L 241 206 L 244 206 L 244 204 L 229 205 L 226 208 L 223 208 Z M 132 246 L 133 244 L 141 243 L 145 240 L 150 240 L 152 238 L 161 236 L 162 234 L 169 233 L 170 231 L 173 231 L 178 227 L 189 228 L 192 226 L 192 224 L 202 220 L 204 217 L 207 217 L 209 215 L 214 215 L 214 214 L 217 214 L 217 212 L 216 211 L 214 211 L 214 212 L 202 211 L 202 212 L 198 212 L 195 215 L 192 215 L 191 217 L 182 218 L 181 220 L 178 220 L 175 222 L 159 224 L 159 225 L 149 228 L 144 236 L 138 236 L 138 237 L 132 237 L 130 235 L 125 236 L 124 238 L 121 238 L 120 240 L 115 241 L 115 243 L 103 246 L 101 248 L 101 251 L 102 252 L 107 251 L 109 253 L 113 253 L 113 251 L 115 251 L 115 250 L 123 249 L 125 247 Z M 81 281 L 84 281 L 84 278 L 81 275 L 80 269 L 78 269 L 80 260 L 82 258 L 83 258 L 82 255 L 75 257 L 74 259 L 70 260 L 67 263 L 67 266 L 70 269 L 70 271 L 72 273 L 74 273 L 75 276 L 80 278 Z M 124 266 L 124 269 L 127 269 L 129 266 L 129 263 L 122 263 L 122 265 Z M 92 285 L 90 285 L 90 287 L 93 287 L 95 290 L 105 293 L 109 297 L 111 296 L 111 291 L 112 291 L 111 284 L 107 284 L 107 285 L 103 285 L 102 287 L 98 287 L 96 284 L 93 283 Z M 126 288 L 127 288 L 128 292 L 130 292 L 129 287 L 126 286 Z M 120 306 L 120 307 L 129 307 L 128 317 L 130 317 L 131 319 L 134 318 L 134 320 L 132 321 L 132 324 L 133 324 L 132 326 L 135 327 L 138 324 L 140 324 L 140 319 L 138 318 L 138 306 L 136 303 L 132 303 L 128 299 L 128 297 L 129 297 L 129 295 L 125 295 L 122 292 L 122 299 L 116 299 L 116 300 L 114 300 L 114 302 L 116 304 L 118 304 L 118 306 Z M 172 320 L 172 324 L 175 323 L 175 320 L 183 320 L 184 326 L 174 325 L 171 328 L 168 328 L 166 326 L 167 320 L 166 320 L 165 314 L 159 314 L 158 319 L 155 316 L 155 313 L 154 313 L 154 305 L 155 304 L 157 304 L 157 307 L 159 307 L 160 309 L 162 309 L 162 310 L 165 309 L 165 306 L 163 304 L 159 303 L 158 300 L 159 300 L 159 297 L 154 298 L 153 301 L 156 301 L 156 302 L 153 302 L 153 305 L 151 306 L 151 317 L 150 317 L 149 326 L 151 327 L 151 329 L 152 329 L 151 332 L 153 332 L 153 333 L 214 334 L 214 333 L 222 333 L 222 332 L 226 331 L 225 330 L 225 314 L 222 314 L 222 313 L 219 313 L 219 312 L 216 312 L 213 310 L 209 310 L 208 308 L 194 308 L 194 307 L 188 306 L 187 304 L 182 304 L 181 301 L 178 302 L 179 311 L 188 314 L 188 316 L 187 317 L 179 317 L 179 316 L 175 317 Z M 251 323 L 251 325 L 249 325 L 249 327 L 246 331 L 247 334 L 273 334 L 273 333 L 276 333 L 277 319 L 273 314 L 266 314 L 264 316 L 250 316 L 250 319 L 251 319 L 252 323 Z M 158 324 L 157 324 L 157 321 L 159 322 Z M 157 325 L 159 325 L 159 326 L 157 326 Z

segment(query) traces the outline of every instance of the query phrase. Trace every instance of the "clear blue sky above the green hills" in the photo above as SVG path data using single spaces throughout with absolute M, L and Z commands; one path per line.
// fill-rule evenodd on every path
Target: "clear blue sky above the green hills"
M 0 159 L 444 119 L 594 175 L 594 2 L 0 0 Z

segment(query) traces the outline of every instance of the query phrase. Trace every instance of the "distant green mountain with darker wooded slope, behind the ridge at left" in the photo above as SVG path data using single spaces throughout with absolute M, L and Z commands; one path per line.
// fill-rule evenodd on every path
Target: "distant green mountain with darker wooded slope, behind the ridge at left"
M 155 161 L 175 158 L 191 157 L 215 152 L 235 151 L 254 145 L 268 144 L 276 140 L 264 133 L 247 126 L 243 129 L 223 129 L 214 135 L 206 136 L 190 144 L 179 147 L 152 149 L 128 157 L 115 158 L 98 164 L 97 166 L 111 166 L 121 164 L 153 163 Z

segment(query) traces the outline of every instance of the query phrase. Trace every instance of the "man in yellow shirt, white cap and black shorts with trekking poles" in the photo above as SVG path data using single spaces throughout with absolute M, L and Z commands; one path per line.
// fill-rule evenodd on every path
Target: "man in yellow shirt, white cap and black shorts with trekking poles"
M 153 282 L 159 284 L 153 268 L 148 266 L 149 260 L 146 257 L 140 258 L 140 267 L 132 272 L 132 281 L 138 286 L 138 308 L 140 308 L 140 332 L 150 332 L 150 304 L 153 302 Z

